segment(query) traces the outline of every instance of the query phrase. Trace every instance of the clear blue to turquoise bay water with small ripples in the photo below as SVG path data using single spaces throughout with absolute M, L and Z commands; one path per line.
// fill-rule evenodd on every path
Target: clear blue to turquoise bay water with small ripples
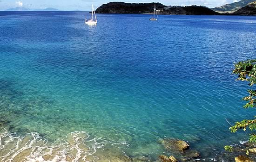
M 78 132 L 98 152 L 152 161 L 165 137 L 211 158 L 246 139 L 226 120 L 254 116 L 231 73 L 256 58 L 256 17 L 99 14 L 88 26 L 85 14 L 0 12 L 4 137 L 56 143 Z

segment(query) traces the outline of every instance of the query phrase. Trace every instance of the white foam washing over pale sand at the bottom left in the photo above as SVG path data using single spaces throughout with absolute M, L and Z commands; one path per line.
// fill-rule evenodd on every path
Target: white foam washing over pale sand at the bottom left
M 36 132 L 18 136 L 5 130 L 0 134 L 0 161 L 90 162 L 99 160 L 99 157 L 94 154 L 99 149 L 104 150 L 104 143 L 106 140 L 92 138 L 84 131 L 71 132 L 66 139 L 50 142 Z M 113 142 L 112 145 L 119 147 L 119 145 L 128 144 Z

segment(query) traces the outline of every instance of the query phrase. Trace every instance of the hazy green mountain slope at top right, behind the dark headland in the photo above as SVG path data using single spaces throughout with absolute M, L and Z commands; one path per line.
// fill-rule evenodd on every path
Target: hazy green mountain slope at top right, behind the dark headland
M 250 2 L 253 2 L 253 1 L 255 1 L 255 0 L 240 0 L 239 2 L 226 4 L 226 5 L 223 5 L 223 6 L 220 6 L 220 7 L 215 7 L 215 8 L 212 8 L 212 9 L 216 12 L 221 12 L 221 13 L 235 12 L 235 11 L 239 10 L 240 8 L 246 6 L 247 4 L 249 4 Z

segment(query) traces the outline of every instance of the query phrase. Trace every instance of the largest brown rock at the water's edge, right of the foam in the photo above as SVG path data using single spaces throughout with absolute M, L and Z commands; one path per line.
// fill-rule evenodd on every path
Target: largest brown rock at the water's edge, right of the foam
M 164 139 L 163 145 L 168 150 L 184 151 L 189 149 L 189 144 L 178 139 Z

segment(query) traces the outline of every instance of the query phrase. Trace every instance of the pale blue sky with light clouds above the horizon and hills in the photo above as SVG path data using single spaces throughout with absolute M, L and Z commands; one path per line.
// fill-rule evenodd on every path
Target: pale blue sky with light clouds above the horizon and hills
M 0 0 L 0 11 L 13 7 L 26 7 L 29 9 L 45 9 L 47 7 L 53 7 L 62 11 L 90 11 L 92 3 L 96 9 L 102 4 L 110 1 L 123 1 L 130 3 L 160 2 L 167 6 L 202 5 L 213 8 L 227 3 L 232 3 L 237 0 Z

